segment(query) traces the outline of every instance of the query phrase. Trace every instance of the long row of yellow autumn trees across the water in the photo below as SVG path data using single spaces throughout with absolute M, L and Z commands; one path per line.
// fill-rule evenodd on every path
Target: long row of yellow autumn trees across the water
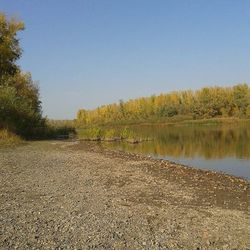
M 214 117 L 250 118 L 248 84 L 233 87 L 206 87 L 175 91 L 103 105 L 93 110 L 80 109 L 77 125 L 151 121 L 171 117 L 204 119 Z

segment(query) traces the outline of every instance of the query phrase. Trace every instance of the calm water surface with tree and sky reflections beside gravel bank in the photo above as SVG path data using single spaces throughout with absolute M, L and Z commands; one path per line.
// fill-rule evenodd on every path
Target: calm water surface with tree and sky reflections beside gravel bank
M 108 143 L 107 146 L 250 179 L 249 124 L 130 128 L 141 137 L 154 140 L 139 144 Z

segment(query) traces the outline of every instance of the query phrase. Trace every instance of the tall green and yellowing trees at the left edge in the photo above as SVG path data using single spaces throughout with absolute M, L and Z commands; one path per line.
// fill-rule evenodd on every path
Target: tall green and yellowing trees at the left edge
M 17 65 L 21 56 L 17 33 L 23 29 L 23 22 L 0 13 L 0 128 L 28 137 L 44 127 L 44 119 L 38 86 Z

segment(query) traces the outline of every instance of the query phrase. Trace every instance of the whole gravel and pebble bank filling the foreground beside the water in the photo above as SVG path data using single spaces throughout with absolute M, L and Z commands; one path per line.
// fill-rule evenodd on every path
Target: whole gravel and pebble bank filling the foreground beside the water
M 0 249 L 250 249 L 249 182 L 78 142 L 0 150 Z

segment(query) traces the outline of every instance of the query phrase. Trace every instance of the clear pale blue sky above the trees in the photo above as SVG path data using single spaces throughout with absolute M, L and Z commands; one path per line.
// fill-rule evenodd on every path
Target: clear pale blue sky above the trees
M 44 115 L 250 83 L 249 0 L 0 0 L 23 20 L 20 65 Z

